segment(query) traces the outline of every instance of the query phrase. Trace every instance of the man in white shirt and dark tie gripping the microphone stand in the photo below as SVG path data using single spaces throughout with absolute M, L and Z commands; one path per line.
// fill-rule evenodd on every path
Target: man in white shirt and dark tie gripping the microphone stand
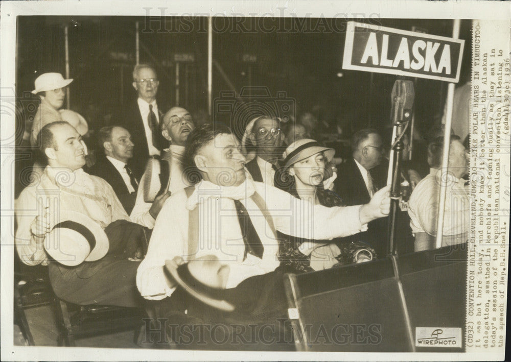
M 327 208 L 311 206 L 285 191 L 254 182 L 245 174 L 245 157 L 228 128 L 206 124 L 187 140 L 185 157 L 201 180 L 175 192 L 162 207 L 148 253 L 137 272 L 137 287 L 147 299 L 172 295 L 166 260 L 192 260 L 215 255 L 229 267 L 226 287 L 278 267 L 276 230 L 311 240 L 360 232 L 388 214 L 388 187 L 368 204 Z M 310 243 L 304 253 L 317 247 Z

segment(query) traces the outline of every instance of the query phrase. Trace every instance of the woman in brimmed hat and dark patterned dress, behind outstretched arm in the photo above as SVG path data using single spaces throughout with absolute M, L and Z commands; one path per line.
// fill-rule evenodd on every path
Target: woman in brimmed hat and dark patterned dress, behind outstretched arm
M 335 192 L 323 188 L 326 165 L 332 161 L 334 154 L 333 149 L 321 147 L 313 139 L 304 138 L 291 143 L 283 154 L 284 166 L 275 175 L 275 187 L 311 204 L 326 207 L 343 206 L 341 198 Z M 297 272 L 368 261 L 375 256 L 373 248 L 350 238 L 321 243 L 318 240 L 311 241 L 284 234 L 278 236 L 281 240 L 279 251 L 281 265 L 291 266 Z M 306 250 L 310 250 L 311 245 L 318 247 L 313 248 L 314 250 L 307 255 Z

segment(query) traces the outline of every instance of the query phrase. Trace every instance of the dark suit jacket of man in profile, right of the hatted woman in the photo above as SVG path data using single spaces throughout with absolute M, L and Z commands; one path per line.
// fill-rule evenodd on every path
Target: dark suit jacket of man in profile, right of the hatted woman
M 373 184 L 376 189 L 381 188 L 379 176 L 371 172 Z M 371 198 L 365 187 L 365 182 L 360 169 L 353 157 L 338 167 L 337 179 L 334 183 L 334 191 L 341 197 L 344 205 L 367 204 Z M 371 221 L 367 225 L 367 231 L 350 236 L 354 240 L 362 240 L 375 249 L 378 257 L 385 257 L 387 245 L 387 223 L 388 218 Z

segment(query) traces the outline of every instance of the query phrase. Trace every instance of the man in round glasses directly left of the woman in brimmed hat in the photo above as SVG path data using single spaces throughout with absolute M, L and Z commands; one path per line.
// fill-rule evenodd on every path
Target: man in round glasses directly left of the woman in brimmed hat
M 277 160 L 282 155 L 281 146 L 284 141 L 280 120 L 263 115 L 255 119 L 252 129 L 247 132 L 255 146 L 256 156 L 245 167 L 254 181 L 274 186 Z

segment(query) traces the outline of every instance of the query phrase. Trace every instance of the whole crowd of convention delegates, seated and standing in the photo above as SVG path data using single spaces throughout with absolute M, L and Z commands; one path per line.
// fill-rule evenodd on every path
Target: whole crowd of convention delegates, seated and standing
M 200 232 L 207 230 L 213 239 L 220 234 L 222 240 L 243 239 L 242 244 L 227 244 L 228 250 L 223 250 L 240 259 L 225 261 L 216 255 L 218 265 L 200 265 L 196 274 L 190 264 L 189 272 L 205 278 L 201 281 L 210 287 L 234 288 L 279 268 L 303 273 L 384 258 L 389 227 L 396 230 L 400 254 L 433 248 L 436 220 L 443 211 L 438 210 L 437 201 L 445 171 L 440 170 L 441 127 L 430 130 L 427 137 L 403 135 L 400 209 L 397 222 L 389 225 L 381 210 L 389 203 L 391 129 L 361 129 L 357 125 L 364 123 L 356 119 L 355 112 L 346 112 L 336 122 L 327 119 L 321 107 L 287 115 L 286 122 L 279 115 L 258 114 L 236 126 L 244 129 L 238 139 L 224 125 L 212 125 L 204 110 L 160 108 L 156 100 L 159 80 L 150 65 L 135 66 L 132 85 L 137 97 L 126 102 L 119 114 L 100 111 L 93 104 L 84 116 L 63 109 L 65 87 L 72 81 L 58 73 L 35 80 L 32 93 L 40 104 L 25 124 L 24 142 L 38 156 L 29 161 L 33 183 L 18 184 L 16 195 L 18 256 L 31 266 L 49 264 L 55 293 L 66 301 L 138 306 L 141 297 L 171 297 L 176 283 L 169 282 L 162 270 L 182 271 L 185 261 L 192 260 L 184 256 L 193 254 L 198 241 L 188 226 L 198 218 L 193 205 L 204 212 L 202 203 L 209 202 L 200 200 L 205 186 L 210 186 L 208 192 L 220 186 L 228 202 L 234 202 L 230 210 L 236 213 L 230 216 L 240 227 L 225 222 L 222 234 L 214 223 L 200 219 L 206 223 Z M 462 140 L 451 136 L 445 245 L 458 245 L 467 238 L 468 155 Z M 64 179 L 74 183 L 61 183 L 59 173 L 64 169 L 68 170 Z M 252 190 L 250 195 L 240 196 L 240 185 L 245 185 L 244 192 Z M 56 225 L 47 215 L 51 206 L 41 209 L 37 205 L 36 188 L 41 187 L 45 192 L 59 189 L 60 208 L 94 221 L 89 230 L 101 226 L 106 249 L 90 257 L 99 248 L 101 231 L 92 233 L 96 243 L 89 253 L 75 255 L 81 260 L 78 264 L 58 262 L 64 257 L 62 250 L 43 248 Z M 300 210 L 293 214 L 298 218 L 294 226 L 283 220 L 286 211 L 272 211 L 278 203 L 284 210 Z M 210 210 L 217 206 L 211 204 Z M 260 218 L 254 218 L 254 209 Z M 27 210 L 40 212 L 30 216 Z M 364 210 L 372 211 L 365 214 L 368 211 Z M 224 211 L 220 209 L 220 214 Z M 247 213 L 251 221 L 243 219 Z M 270 243 L 268 228 L 278 244 Z M 229 234 L 233 230 L 236 235 Z M 197 250 L 197 260 L 206 256 L 211 260 L 215 255 L 213 249 Z M 215 278 L 210 280 L 210 275 Z

